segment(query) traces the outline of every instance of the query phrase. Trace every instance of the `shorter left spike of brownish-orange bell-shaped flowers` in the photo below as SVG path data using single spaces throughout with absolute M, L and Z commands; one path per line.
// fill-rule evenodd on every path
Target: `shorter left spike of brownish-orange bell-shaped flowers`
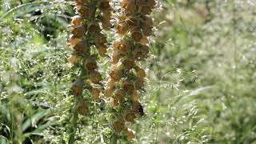
M 68 58 L 71 65 L 80 69 L 78 80 L 72 86 L 72 94 L 78 102 L 78 114 L 90 114 L 89 104 L 82 97 L 84 89 L 88 89 L 91 99 L 99 101 L 102 89 L 96 85 L 101 84 L 102 75 L 98 72 L 98 55 L 105 57 L 108 42 L 102 29 L 110 30 L 112 9 L 110 0 L 74 0 L 76 15 L 71 18 L 71 34 L 68 46 L 73 53 Z M 96 48 L 96 50 L 93 50 Z

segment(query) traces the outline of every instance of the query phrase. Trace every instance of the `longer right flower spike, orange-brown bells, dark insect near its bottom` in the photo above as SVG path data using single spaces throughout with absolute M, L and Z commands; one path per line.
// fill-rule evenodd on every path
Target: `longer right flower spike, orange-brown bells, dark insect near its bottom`
M 133 130 L 126 123 L 134 124 L 144 111 L 141 98 L 146 72 L 140 62 L 148 58 L 150 52 L 149 36 L 153 33 L 154 19 L 150 13 L 157 0 L 121 0 L 119 14 L 116 15 L 115 31 L 118 39 L 113 42 L 109 81 L 105 95 L 111 98 L 111 105 L 118 111 L 120 118 L 113 124 L 114 132 L 126 133 L 134 140 Z M 107 7 L 107 6 L 106 6 Z

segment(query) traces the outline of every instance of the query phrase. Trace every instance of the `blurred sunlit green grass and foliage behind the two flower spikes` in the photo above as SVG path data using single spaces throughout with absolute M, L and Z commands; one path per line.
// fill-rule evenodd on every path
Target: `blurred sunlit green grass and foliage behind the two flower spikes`
M 256 2 L 162 0 L 137 141 L 256 143 Z M 0 143 L 67 143 L 70 1 L 0 0 Z M 109 34 L 110 39 L 113 34 Z M 109 69 L 100 59 L 102 73 Z M 79 118 L 77 143 L 109 143 L 106 105 Z M 96 110 L 97 109 L 97 110 Z

